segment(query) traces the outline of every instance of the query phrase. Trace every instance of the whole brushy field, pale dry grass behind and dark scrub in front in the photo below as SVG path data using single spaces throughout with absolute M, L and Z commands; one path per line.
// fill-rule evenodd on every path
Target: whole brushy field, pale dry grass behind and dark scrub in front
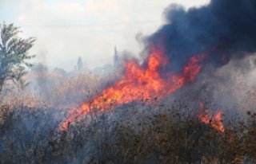
M 214 128 L 217 108 L 209 100 L 203 100 L 201 108 L 179 96 L 167 96 L 103 112 L 92 109 L 61 131 L 68 111 L 102 92 L 114 76 L 107 79 L 82 72 L 32 75 L 28 74 L 30 79 L 45 86 L 31 92 L 33 84 L 22 91 L 10 84 L 12 89 L 2 97 L 1 163 L 256 162 L 254 112 L 225 112 L 220 120 L 225 130 L 218 131 Z M 211 109 L 208 123 L 198 117 L 207 109 Z

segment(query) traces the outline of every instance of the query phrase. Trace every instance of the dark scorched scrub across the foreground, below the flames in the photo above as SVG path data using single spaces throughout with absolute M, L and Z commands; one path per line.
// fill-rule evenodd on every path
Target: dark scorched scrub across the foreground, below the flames
M 222 133 L 177 101 L 92 111 L 68 131 L 67 110 L 1 107 L 0 163 L 255 163 L 256 114 L 223 116 Z

